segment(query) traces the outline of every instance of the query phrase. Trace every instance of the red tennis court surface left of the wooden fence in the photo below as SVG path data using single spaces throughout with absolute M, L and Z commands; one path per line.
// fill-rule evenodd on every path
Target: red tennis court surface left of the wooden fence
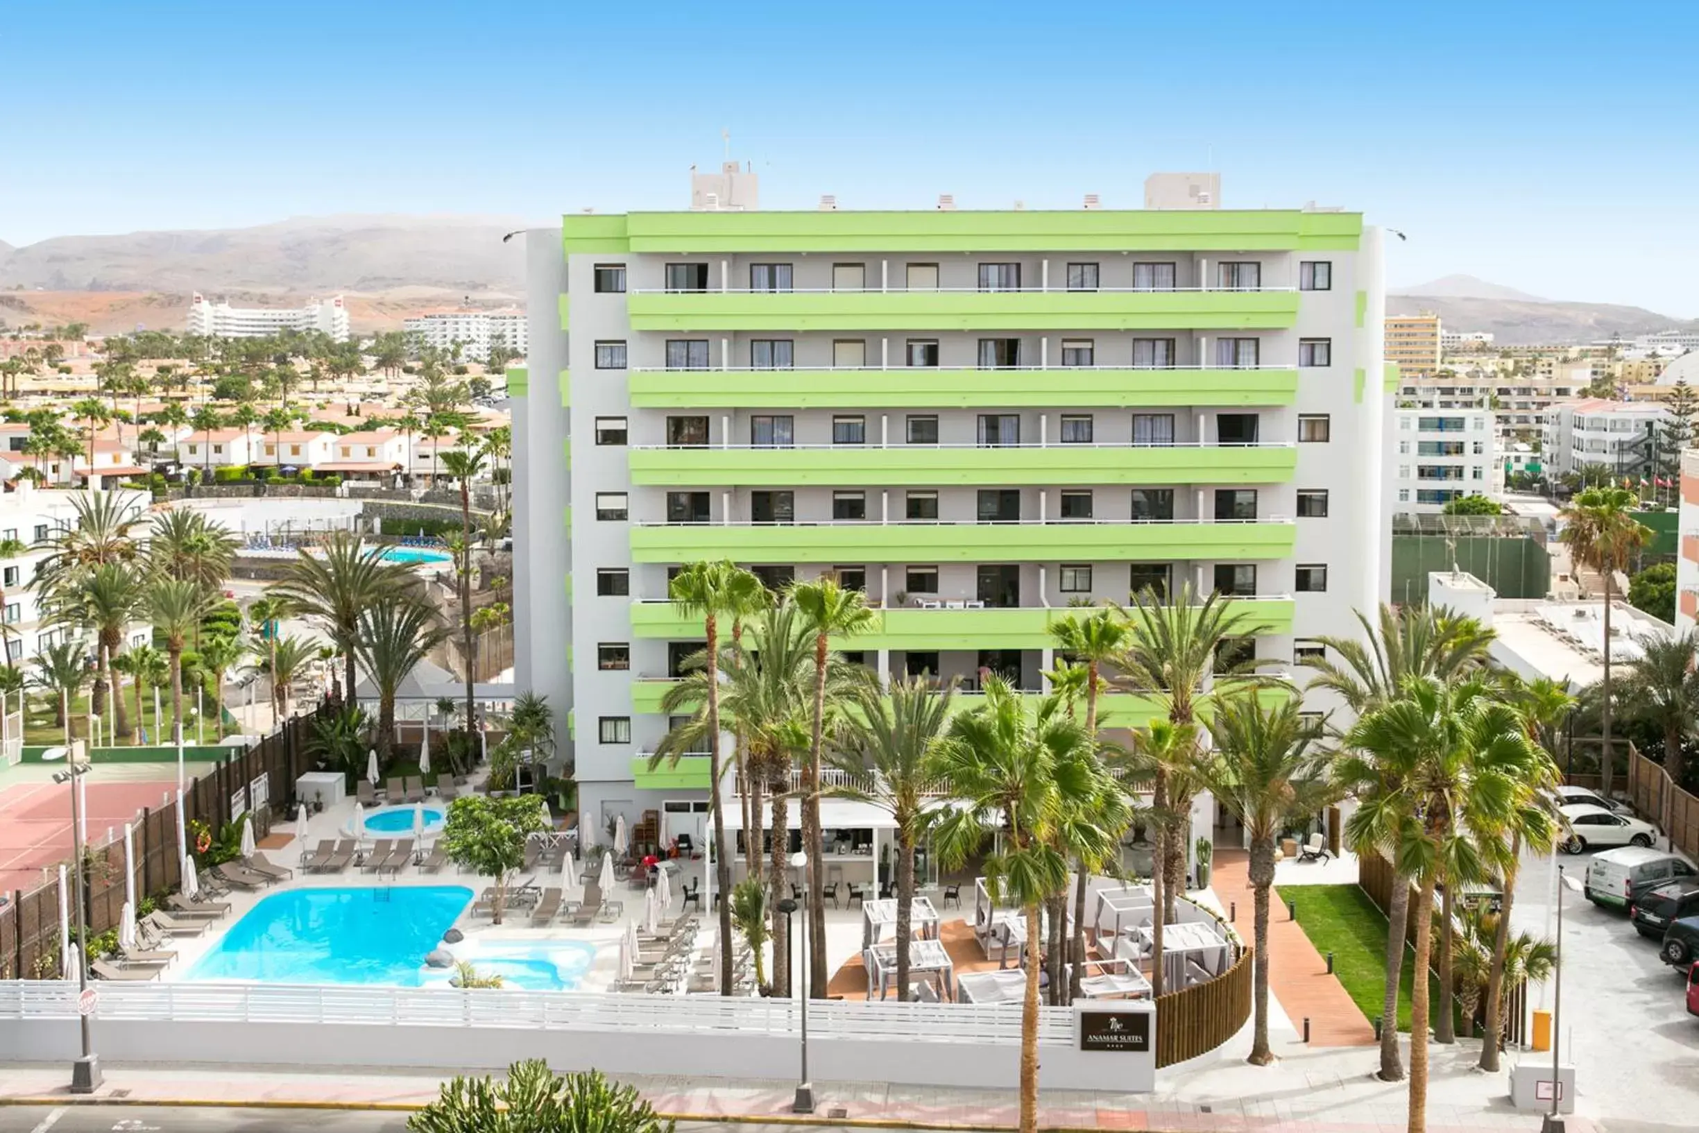
M 88 841 L 104 843 L 107 827 L 122 832 L 143 807 L 158 807 L 177 780 L 88 783 Z M 71 858 L 71 788 L 68 783 L 17 783 L 0 788 L 0 892 L 32 890 L 42 866 Z

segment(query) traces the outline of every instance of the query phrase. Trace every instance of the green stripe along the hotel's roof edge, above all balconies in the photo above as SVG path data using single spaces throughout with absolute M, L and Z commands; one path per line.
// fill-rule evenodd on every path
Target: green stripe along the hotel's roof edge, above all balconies
M 574 253 L 759 251 L 1322 251 L 1356 250 L 1361 212 L 843 211 L 629 212 L 562 217 Z

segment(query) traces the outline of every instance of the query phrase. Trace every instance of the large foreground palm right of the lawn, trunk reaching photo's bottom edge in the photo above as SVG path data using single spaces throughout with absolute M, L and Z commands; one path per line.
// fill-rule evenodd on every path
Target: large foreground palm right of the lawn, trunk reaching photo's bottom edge
M 1522 719 L 1483 681 L 1444 685 L 1412 679 L 1403 696 L 1352 725 L 1349 746 L 1381 766 L 1342 759 L 1344 781 L 1378 785 L 1397 771 L 1400 790 L 1371 793 L 1351 815 L 1383 812 L 1395 831 L 1390 846 L 1398 871 L 1415 878 L 1415 980 L 1410 995 L 1410 1133 L 1427 1128 L 1429 958 L 1434 890 L 1442 877 L 1482 877 L 1499 861 L 1502 831 L 1514 812 L 1519 781 L 1532 781 L 1544 758 L 1524 734 Z

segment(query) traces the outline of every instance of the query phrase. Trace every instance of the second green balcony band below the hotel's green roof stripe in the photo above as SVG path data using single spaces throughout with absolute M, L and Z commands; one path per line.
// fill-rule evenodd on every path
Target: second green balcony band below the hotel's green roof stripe
M 1290 406 L 1293 367 L 634 369 L 639 409 Z

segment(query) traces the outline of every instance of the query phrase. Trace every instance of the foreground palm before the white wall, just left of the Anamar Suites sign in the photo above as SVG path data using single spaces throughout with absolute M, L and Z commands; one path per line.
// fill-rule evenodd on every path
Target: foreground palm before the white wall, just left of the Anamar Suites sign
M 1091 737 L 1067 719 L 1062 702 L 1045 696 L 1028 715 L 1021 695 L 997 674 L 985 676 L 985 700 L 957 715 L 928 761 L 950 785 L 957 805 L 933 826 L 933 843 L 948 868 L 960 868 L 994 834 L 985 860 L 992 900 L 1018 905 L 1026 921 L 1026 994 L 1021 1002 L 1021 1133 L 1038 1128 L 1038 943 L 1040 907 L 1067 888 L 1067 853 L 1058 824 L 1070 807 L 1106 778 Z M 1103 832 L 1113 841 L 1113 834 Z

